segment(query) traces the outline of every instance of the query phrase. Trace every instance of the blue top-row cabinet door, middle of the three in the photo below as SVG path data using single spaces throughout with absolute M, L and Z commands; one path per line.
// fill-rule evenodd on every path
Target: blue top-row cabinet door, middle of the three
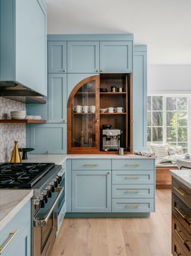
M 96 73 L 99 69 L 99 42 L 67 42 L 68 73 Z

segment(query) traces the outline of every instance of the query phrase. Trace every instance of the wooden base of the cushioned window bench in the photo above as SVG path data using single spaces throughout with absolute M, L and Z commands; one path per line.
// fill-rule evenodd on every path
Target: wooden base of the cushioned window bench
M 156 168 L 156 188 L 171 188 L 172 178 L 169 170 L 177 170 L 178 167 L 158 167 Z

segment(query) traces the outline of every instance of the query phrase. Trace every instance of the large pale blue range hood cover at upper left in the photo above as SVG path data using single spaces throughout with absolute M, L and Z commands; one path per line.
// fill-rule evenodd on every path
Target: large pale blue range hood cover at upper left
M 0 80 L 47 95 L 47 12 L 42 0 L 1 0 Z

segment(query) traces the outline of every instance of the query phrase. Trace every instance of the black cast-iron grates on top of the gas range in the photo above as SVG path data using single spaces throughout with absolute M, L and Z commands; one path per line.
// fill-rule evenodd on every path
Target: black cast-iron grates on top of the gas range
M 55 164 L 0 164 L 0 188 L 32 188 Z

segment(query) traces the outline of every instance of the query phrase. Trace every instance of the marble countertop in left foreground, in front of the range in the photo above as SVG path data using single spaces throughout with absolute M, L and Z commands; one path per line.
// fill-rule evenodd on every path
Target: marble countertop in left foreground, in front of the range
M 32 196 L 33 190 L 0 189 L 0 231 Z

